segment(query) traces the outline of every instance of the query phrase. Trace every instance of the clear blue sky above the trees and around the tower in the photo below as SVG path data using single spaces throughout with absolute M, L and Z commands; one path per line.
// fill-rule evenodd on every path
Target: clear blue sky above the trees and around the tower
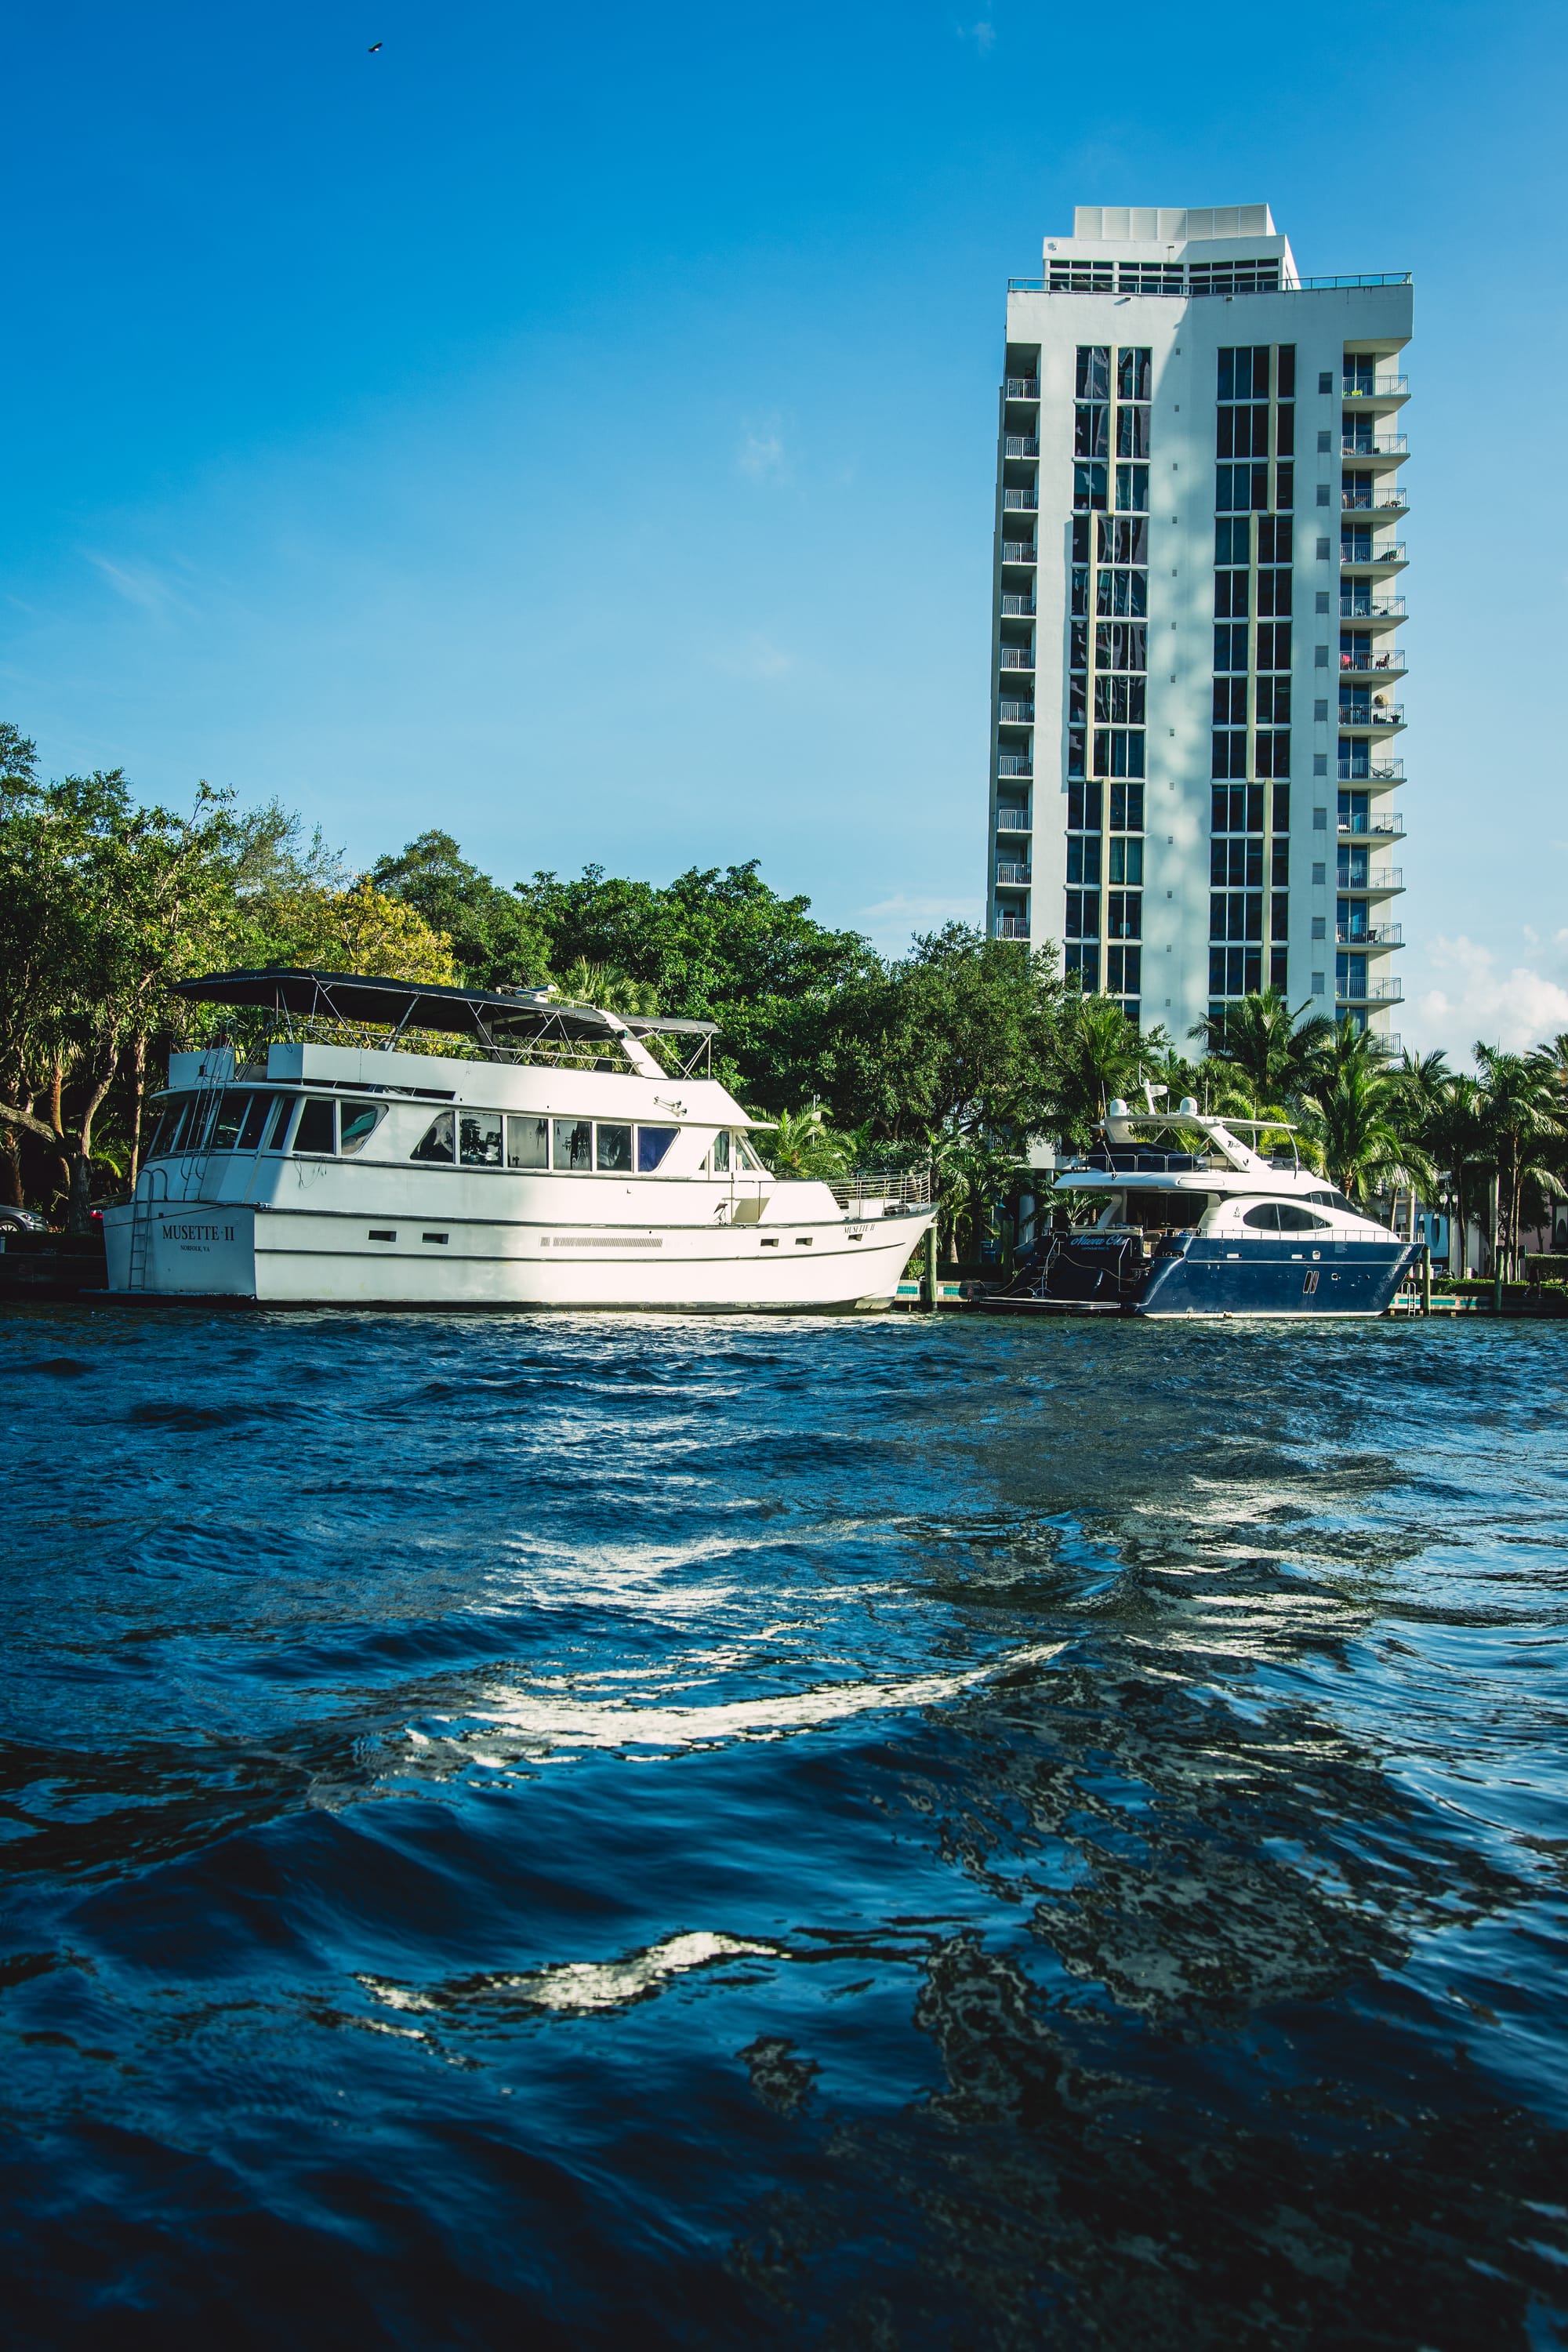
M 973 917 L 1006 275 L 1267 200 L 1418 273 L 1401 1028 L 1568 1028 L 1566 64 L 1441 0 L 12 12 L 0 715 L 360 863 Z

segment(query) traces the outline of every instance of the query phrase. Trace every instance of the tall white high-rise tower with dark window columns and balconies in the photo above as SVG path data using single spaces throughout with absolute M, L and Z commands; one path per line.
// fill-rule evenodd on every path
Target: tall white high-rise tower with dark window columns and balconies
M 990 929 L 1182 1049 L 1267 985 L 1389 1035 L 1408 339 L 1267 205 L 1079 205 L 1009 285 Z

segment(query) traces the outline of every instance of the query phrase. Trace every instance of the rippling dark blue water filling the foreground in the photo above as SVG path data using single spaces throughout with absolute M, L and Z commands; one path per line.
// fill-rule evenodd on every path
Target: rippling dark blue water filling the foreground
M 1568 2340 L 1566 1364 L 12 1312 L 7 2345 Z

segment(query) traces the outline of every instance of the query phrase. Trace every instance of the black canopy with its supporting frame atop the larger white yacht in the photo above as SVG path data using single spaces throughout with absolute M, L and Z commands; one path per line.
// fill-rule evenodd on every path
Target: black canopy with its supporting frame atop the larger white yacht
M 639 1040 L 696 1040 L 679 1063 L 682 1077 L 696 1077 L 698 1070 L 712 1070 L 717 1037 L 715 1021 L 665 1021 L 654 1014 L 609 1014 L 597 1004 L 559 1004 L 545 988 L 437 988 L 362 971 L 209 971 L 197 981 L 176 981 L 174 995 L 193 1004 L 270 1011 L 289 1037 L 294 1023 L 329 1023 L 357 1033 L 362 1044 L 393 1049 L 411 1030 L 437 1030 L 470 1037 L 487 1061 L 583 1061 L 595 1044 L 614 1042 L 642 1077 L 670 1073 Z

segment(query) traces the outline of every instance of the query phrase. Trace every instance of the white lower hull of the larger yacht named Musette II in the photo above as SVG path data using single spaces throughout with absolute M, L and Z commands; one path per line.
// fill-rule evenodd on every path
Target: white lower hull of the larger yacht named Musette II
M 374 1214 L 374 1211 L 371 1211 Z M 884 1308 L 929 1211 L 863 1223 L 581 1225 L 139 1202 L 106 1209 L 110 1291 L 273 1305 Z

